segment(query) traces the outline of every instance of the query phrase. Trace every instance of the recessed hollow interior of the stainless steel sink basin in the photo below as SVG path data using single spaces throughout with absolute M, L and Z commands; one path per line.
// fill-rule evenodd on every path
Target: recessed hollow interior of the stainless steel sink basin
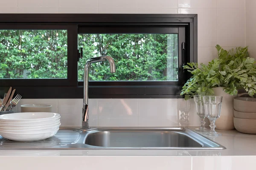
M 100 131 L 90 133 L 85 144 L 99 147 L 202 147 L 189 136 L 172 131 Z

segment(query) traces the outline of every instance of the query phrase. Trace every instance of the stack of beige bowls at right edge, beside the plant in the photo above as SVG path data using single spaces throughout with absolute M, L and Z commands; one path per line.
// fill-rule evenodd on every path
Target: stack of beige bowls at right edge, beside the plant
M 234 126 L 241 133 L 256 134 L 256 98 L 234 98 Z

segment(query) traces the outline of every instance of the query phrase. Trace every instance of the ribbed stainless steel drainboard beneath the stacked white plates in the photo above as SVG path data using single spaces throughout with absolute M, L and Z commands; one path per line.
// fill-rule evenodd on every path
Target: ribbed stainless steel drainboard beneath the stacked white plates
M 16 142 L 0 136 L 0 147 L 56 147 L 60 145 L 74 144 L 80 138 L 80 133 L 75 130 L 58 130 L 55 136 L 43 141 Z

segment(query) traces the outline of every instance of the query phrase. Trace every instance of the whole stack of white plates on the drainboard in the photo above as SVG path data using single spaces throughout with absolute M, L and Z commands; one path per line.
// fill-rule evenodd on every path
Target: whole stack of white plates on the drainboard
M 25 112 L 0 115 L 0 135 L 13 141 L 40 141 L 54 136 L 61 125 L 58 113 Z

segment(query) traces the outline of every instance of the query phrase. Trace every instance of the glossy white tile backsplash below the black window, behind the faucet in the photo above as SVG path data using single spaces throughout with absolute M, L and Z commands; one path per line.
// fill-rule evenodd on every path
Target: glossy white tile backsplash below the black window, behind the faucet
M 89 99 L 89 125 L 102 126 L 199 126 L 193 100 Z M 61 115 L 61 126 L 81 127 L 83 99 L 21 99 L 20 105 L 52 105 Z

